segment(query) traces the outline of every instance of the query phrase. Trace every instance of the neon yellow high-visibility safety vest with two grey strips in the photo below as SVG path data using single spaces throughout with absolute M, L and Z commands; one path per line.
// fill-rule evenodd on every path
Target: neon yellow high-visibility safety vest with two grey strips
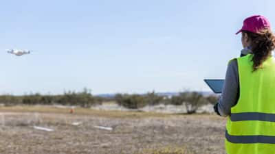
M 226 125 L 228 154 L 275 153 L 275 58 L 253 72 L 252 57 L 237 58 L 240 97 Z

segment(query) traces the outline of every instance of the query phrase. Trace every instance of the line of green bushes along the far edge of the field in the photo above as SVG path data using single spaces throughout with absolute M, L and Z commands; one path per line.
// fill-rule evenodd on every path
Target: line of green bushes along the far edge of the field
M 179 92 L 173 97 L 159 96 L 155 92 L 147 94 L 115 94 L 115 97 L 104 98 L 91 94 L 90 90 L 82 92 L 64 92 L 60 95 L 42 95 L 39 93 L 24 96 L 1 95 L 0 103 L 4 105 L 76 105 L 91 107 L 101 105 L 104 101 L 115 101 L 128 109 L 140 109 L 147 105 L 184 105 L 188 114 L 195 113 L 201 105 L 217 103 L 217 95 L 203 96 L 199 92 Z

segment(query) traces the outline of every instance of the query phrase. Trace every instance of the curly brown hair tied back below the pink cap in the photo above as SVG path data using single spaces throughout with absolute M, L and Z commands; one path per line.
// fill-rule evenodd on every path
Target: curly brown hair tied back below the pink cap
M 242 35 L 248 34 L 248 40 L 251 41 L 253 71 L 256 71 L 272 55 L 272 51 L 275 49 L 275 36 L 270 29 L 263 29 L 259 34 L 250 31 L 242 32 Z

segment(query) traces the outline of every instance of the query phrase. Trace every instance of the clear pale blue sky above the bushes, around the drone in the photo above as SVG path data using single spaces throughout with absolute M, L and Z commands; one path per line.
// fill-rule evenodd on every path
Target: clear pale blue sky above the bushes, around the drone
M 210 91 L 238 57 L 243 20 L 275 1 L 0 2 L 0 94 Z M 30 49 L 17 57 L 6 49 Z

